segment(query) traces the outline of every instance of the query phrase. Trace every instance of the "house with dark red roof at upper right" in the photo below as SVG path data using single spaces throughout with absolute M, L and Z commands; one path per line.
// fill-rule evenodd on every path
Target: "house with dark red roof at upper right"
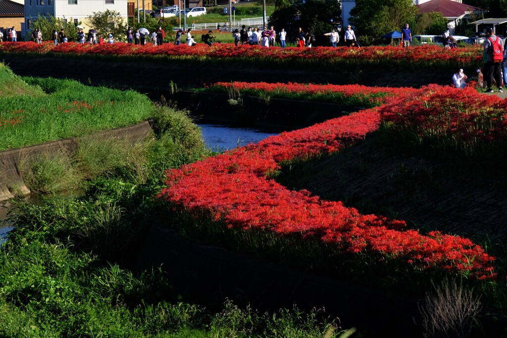
M 442 13 L 449 20 L 447 27 L 451 35 L 454 33 L 454 28 L 456 28 L 460 20 L 477 17 L 485 12 L 480 8 L 452 0 L 429 0 L 417 7 L 421 13 Z

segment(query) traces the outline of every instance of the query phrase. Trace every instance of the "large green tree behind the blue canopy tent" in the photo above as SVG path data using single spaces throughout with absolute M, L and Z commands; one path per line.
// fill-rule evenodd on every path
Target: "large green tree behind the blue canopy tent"
M 361 41 L 379 43 L 383 34 L 401 30 L 405 23 L 414 27 L 418 13 L 412 0 L 357 0 L 350 11 L 350 24 Z

